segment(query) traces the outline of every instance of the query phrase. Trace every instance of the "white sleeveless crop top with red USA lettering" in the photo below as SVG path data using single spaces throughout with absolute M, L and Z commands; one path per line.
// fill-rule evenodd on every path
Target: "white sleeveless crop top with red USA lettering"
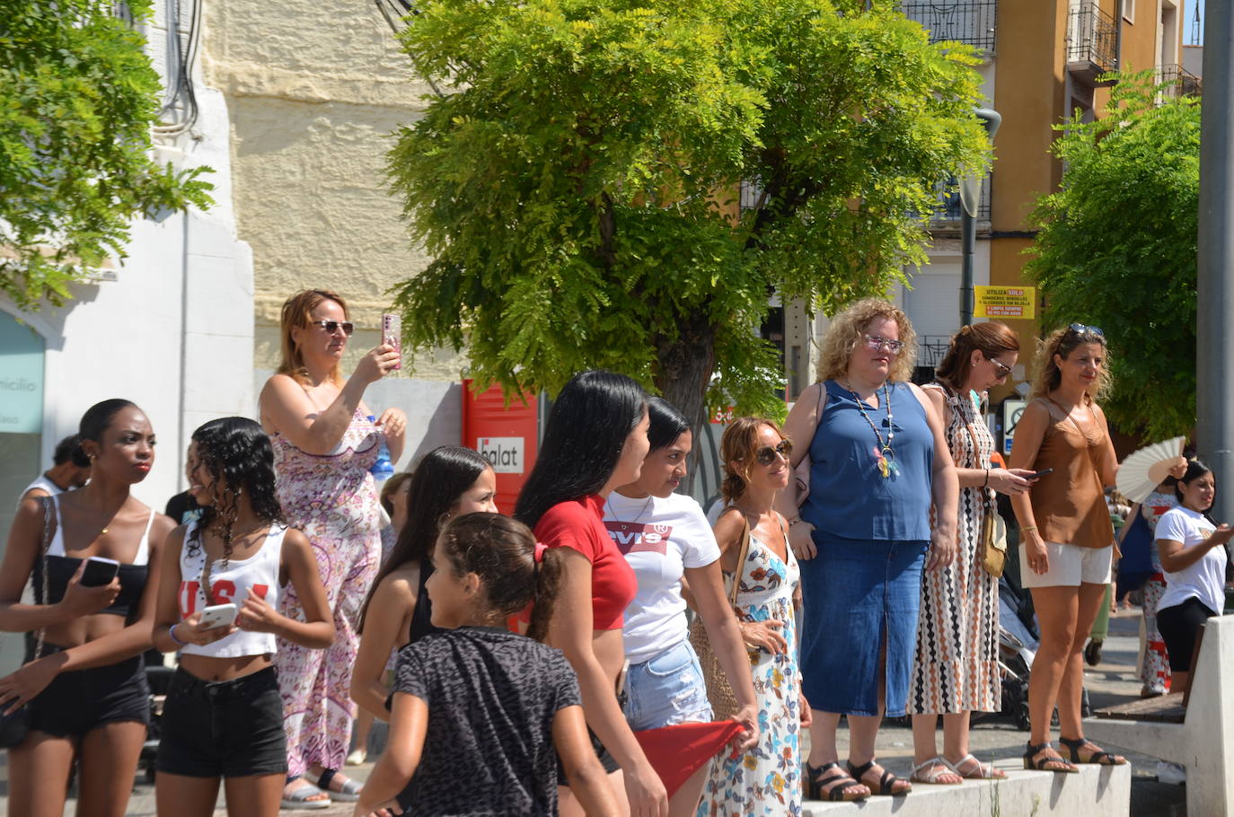
M 234 603 L 243 606 L 249 594 L 260 596 L 274 608 L 279 606 L 279 565 L 281 564 L 283 537 L 288 528 L 271 525 L 265 542 L 257 553 L 247 559 L 228 559 L 223 566 L 222 559 L 216 559 L 210 568 L 210 601 L 201 590 L 201 570 L 206 565 L 206 552 L 200 543 L 193 541 L 197 532 L 197 521 L 193 520 L 184 531 L 184 544 L 180 547 L 180 590 L 176 601 L 180 606 L 180 618 L 191 616 L 197 610 L 212 605 Z M 191 550 L 191 553 L 190 553 Z M 211 644 L 186 644 L 180 648 L 186 655 L 210 655 L 211 658 L 242 658 L 244 655 L 274 654 L 274 633 L 253 633 L 237 629 L 227 638 Z

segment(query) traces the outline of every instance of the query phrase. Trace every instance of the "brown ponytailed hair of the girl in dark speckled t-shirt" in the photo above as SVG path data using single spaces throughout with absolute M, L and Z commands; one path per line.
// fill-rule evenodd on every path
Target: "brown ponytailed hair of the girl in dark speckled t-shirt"
M 464 513 L 450 520 L 437 541 L 438 570 L 474 573 L 484 587 L 481 613 L 506 618 L 536 602 L 527 634 L 544 641 L 561 585 L 563 554 L 548 548 L 536 564 L 536 537 L 517 520 L 500 513 Z

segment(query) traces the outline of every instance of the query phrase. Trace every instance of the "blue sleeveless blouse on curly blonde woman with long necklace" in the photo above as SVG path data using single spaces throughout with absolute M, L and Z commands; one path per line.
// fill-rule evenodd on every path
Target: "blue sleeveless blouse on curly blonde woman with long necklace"
M 810 442 L 810 496 L 801 517 L 827 537 L 881 542 L 928 542 L 934 436 L 926 410 L 908 384 L 891 384 L 891 450 L 898 474 L 884 478 L 879 441 L 848 389 L 826 380 L 822 422 Z M 887 406 L 865 413 L 887 438 Z

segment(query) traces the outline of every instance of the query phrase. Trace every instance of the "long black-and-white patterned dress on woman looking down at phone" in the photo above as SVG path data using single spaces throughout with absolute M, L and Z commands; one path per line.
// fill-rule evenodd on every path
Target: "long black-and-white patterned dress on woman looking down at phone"
M 988 468 L 995 441 L 976 401 L 935 383 L 924 388 L 943 392 L 950 408 L 946 444 L 955 467 Z M 981 566 L 977 552 L 986 515 L 982 491 L 960 489 L 955 560 L 942 570 L 922 574 L 917 652 L 908 689 L 912 715 L 1000 708 L 998 581 Z

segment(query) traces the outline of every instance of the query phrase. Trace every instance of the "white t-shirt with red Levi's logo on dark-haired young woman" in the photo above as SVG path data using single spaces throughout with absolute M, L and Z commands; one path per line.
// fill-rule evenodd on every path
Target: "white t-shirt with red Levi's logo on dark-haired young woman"
M 631 499 L 617 491 L 605 502 L 605 529 L 634 569 L 638 592 L 626 608 L 626 658 L 640 664 L 681 643 L 687 634 L 685 568 L 719 558 L 716 534 L 694 497 Z

